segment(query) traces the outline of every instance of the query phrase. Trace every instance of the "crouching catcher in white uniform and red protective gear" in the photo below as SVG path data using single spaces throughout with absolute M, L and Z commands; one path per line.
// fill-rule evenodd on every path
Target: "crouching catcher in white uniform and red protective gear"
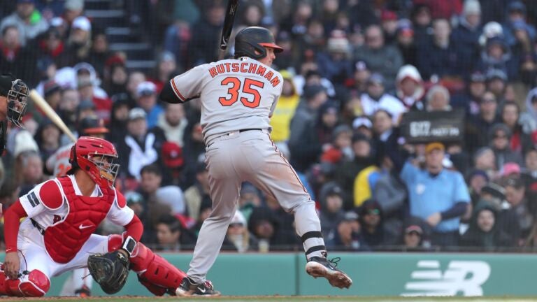
M 43 296 L 50 277 L 87 266 L 92 254 L 112 251 L 129 257 L 130 268 L 153 294 L 176 293 L 186 274 L 137 242 L 143 225 L 113 187 L 115 160 L 112 143 L 83 136 L 71 149 L 69 175 L 37 185 L 6 210 L 0 295 Z M 105 217 L 126 232 L 94 234 Z M 205 286 L 212 289 L 210 282 Z

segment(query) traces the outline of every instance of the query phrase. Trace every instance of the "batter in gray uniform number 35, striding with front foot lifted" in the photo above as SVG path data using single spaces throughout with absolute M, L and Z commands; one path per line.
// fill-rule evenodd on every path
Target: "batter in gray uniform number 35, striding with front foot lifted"
M 237 208 L 241 183 L 248 181 L 294 213 L 296 233 L 306 251 L 306 271 L 334 287 L 352 280 L 327 260 L 315 203 L 294 169 L 270 138 L 270 117 L 282 91 L 282 75 L 271 68 L 282 48 L 262 27 L 247 27 L 235 38 L 235 58 L 196 66 L 173 78 L 161 93 L 169 103 L 201 98 L 213 212 L 199 233 L 190 268 L 177 294 L 210 292 L 203 286 Z

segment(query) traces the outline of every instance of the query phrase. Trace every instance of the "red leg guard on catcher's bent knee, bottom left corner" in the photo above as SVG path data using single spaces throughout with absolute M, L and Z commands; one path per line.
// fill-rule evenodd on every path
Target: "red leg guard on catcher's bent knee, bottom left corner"
M 8 279 L 2 274 L 3 290 L 8 296 L 44 296 L 50 289 L 50 280 L 43 272 L 34 270 L 19 279 Z M 2 281 L 0 280 L 0 284 Z M 1 292 L 1 291 L 0 291 Z

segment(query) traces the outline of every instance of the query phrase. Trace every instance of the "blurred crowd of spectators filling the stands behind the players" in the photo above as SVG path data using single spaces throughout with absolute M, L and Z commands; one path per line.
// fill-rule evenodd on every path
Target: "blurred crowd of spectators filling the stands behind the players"
M 0 3 L 0 71 L 35 87 L 77 134 L 120 154 L 116 186 L 142 241 L 191 250 L 211 201 L 200 103 L 164 104 L 173 75 L 214 62 L 227 1 L 114 1 L 154 45 L 128 68 L 83 0 Z M 285 49 L 272 139 L 317 202 L 330 250 L 537 247 L 537 6 L 517 0 L 241 0 L 234 32 Z M 232 41 L 232 39 L 231 39 Z M 229 53 L 233 53 L 231 43 Z M 411 144 L 407 113 L 464 111 L 460 141 Z M 3 208 L 69 168 L 71 142 L 37 108 L 11 129 Z M 293 217 L 245 183 L 224 250 L 299 250 Z M 122 231 L 113 224 L 101 233 Z

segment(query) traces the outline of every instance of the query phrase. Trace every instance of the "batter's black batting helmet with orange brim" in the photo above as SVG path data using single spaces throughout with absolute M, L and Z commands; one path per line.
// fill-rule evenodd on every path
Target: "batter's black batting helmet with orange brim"
M 251 57 L 252 59 L 262 59 L 266 56 L 266 47 L 273 48 L 274 52 L 283 51 L 283 48 L 276 45 L 271 31 L 264 27 L 246 27 L 235 36 L 236 58 Z

